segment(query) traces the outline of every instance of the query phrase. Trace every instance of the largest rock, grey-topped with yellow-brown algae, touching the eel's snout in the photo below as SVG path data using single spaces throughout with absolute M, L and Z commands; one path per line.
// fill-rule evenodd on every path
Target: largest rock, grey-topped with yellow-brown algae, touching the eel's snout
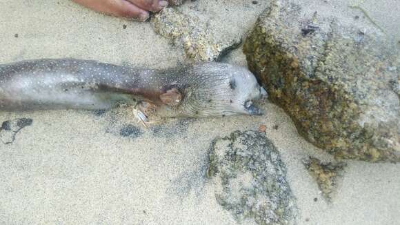
M 400 161 L 400 56 L 379 30 L 277 1 L 243 50 L 310 142 L 341 158 Z M 372 32 L 373 31 L 373 32 Z

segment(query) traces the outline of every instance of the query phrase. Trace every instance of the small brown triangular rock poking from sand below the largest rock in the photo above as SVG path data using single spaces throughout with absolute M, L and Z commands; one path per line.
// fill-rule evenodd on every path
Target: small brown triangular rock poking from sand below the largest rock
M 322 196 L 330 202 L 337 193 L 339 178 L 343 177 L 343 169 L 347 164 L 344 162 L 323 163 L 314 157 L 303 160 L 303 164 L 316 180 Z

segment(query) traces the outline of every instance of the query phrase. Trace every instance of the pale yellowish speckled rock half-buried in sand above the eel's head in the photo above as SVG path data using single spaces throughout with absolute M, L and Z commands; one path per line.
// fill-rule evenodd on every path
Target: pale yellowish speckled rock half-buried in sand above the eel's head
M 240 37 L 221 38 L 208 28 L 209 18 L 184 14 L 178 8 L 165 8 L 152 17 L 154 31 L 183 48 L 190 61 L 216 61 L 224 52 L 237 48 Z

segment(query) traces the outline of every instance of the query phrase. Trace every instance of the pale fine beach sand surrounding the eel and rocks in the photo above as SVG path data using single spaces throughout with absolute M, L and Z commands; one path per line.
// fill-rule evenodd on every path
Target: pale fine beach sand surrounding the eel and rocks
M 303 6 L 342 11 L 347 3 L 303 1 Z M 192 4 L 246 35 L 264 3 L 199 0 L 182 7 Z M 363 5 L 400 39 L 399 1 Z M 368 23 L 359 10 L 346 13 Z M 106 17 L 70 1 L 0 1 L 0 44 L 1 63 L 76 57 L 157 68 L 183 62 L 181 52 L 149 23 Z M 246 65 L 240 49 L 225 61 Z M 172 119 L 150 129 L 124 109 L 103 115 L 1 112 L 0 121 L 26 117 L 33 124 L 12 144 L 0 143 L 0 224 L 236 224 L 204 177 L 210 141 L 261 124 L 288 167 L 299 224 L 400 224 L 399 164 L 348 161 L 328 204 L 301 159 L 332 157 L 299 137 L 279 107 L 267 102 L 263 108 L 262 117 Z

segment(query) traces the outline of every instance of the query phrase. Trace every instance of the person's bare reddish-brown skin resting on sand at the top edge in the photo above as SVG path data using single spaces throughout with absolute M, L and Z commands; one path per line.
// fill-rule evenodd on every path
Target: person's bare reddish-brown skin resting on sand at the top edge
M 134 18 L 146 21 L 149 12 L 159 12 L 168 4 L 176 5 L 181 0 L 72 0 L 97 12 L 116 17 Z

